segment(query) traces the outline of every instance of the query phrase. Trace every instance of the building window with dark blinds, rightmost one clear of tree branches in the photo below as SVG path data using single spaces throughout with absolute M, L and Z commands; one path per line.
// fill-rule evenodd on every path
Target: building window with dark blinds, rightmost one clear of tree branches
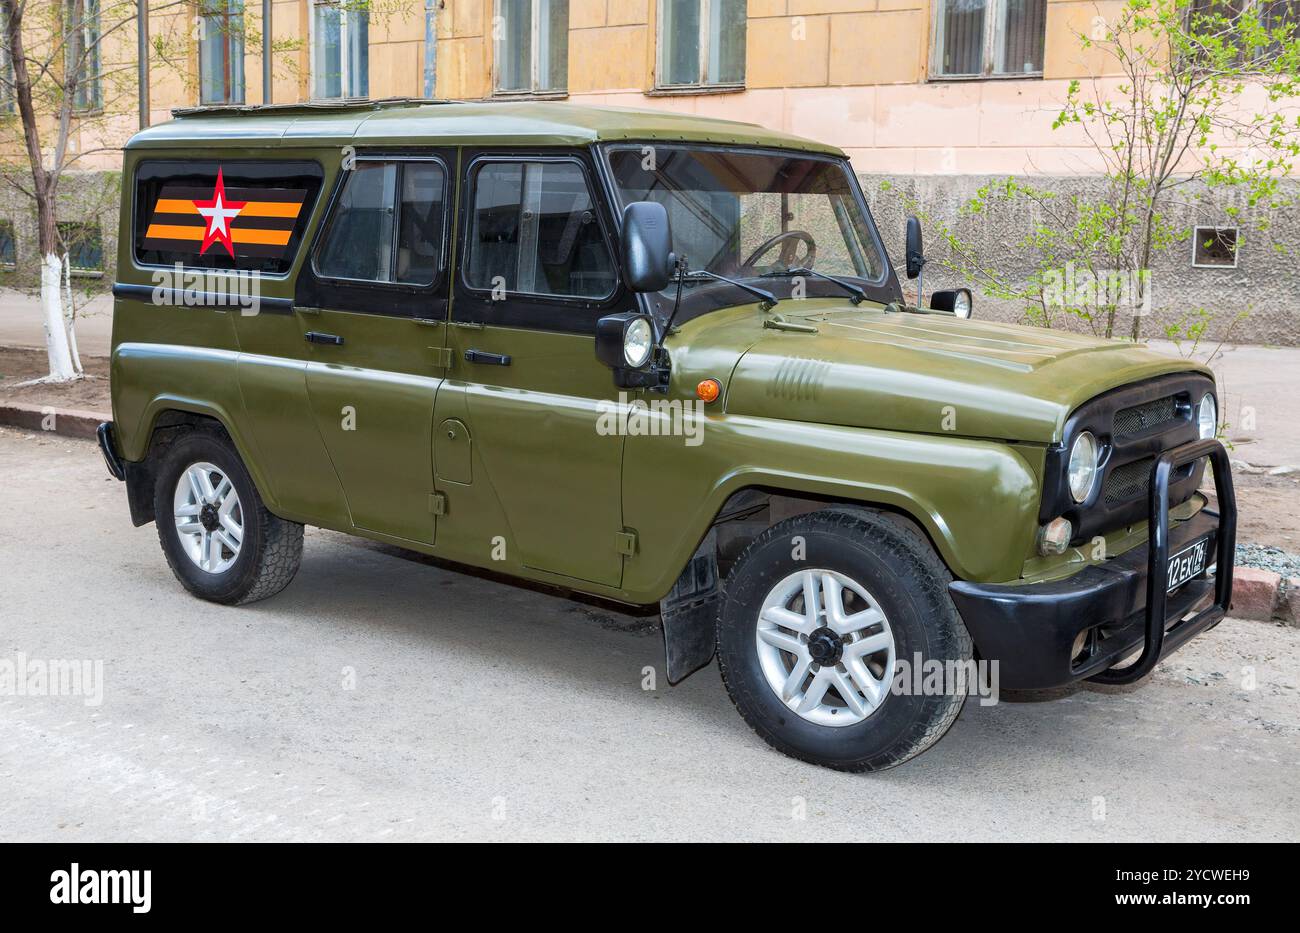
M 1043 74 L 1046 0 L 939 0 L 932 78 Z

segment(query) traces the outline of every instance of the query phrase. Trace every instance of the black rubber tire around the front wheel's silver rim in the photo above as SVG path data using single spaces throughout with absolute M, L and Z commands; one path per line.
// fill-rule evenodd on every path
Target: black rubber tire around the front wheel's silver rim
M 803 560 L 796 560 L 796 537 Z M 970 634 L 948 595 L 952 576 L 915 526 L 853 507 L 796 516 L 755 538 L 727 577 L 718 665 L 745 721 L 774 748 L 837 771 L 892 768 L 942 738 L 966 702 L 965 665 L 944 665 L 941 694 L 889 691 L 853 725 L 810 721 L 777 695 L 759 660 L 758 617 L 768 593 L 801 569 L 833 570 L 863 586 L 888 619 L 900 661 L 971 660 Z

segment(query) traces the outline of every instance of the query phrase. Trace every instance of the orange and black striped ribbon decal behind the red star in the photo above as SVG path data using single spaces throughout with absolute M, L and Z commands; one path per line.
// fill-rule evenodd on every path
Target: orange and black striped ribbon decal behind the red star
M 235 256 L 281 259 L 294 233 L 307 198 L 304 188 L 225 188 L 225 200 L 242 204 L 238 214 L 228 218 L 229 238 Z M 183 185 L 166 185 L 153 203 L 144 247 L 166 252 L 204 251 L 209 220 L 199 207 L 207 204 L 213 190 Z M 225 252 L 218 244 L 218 252 Z

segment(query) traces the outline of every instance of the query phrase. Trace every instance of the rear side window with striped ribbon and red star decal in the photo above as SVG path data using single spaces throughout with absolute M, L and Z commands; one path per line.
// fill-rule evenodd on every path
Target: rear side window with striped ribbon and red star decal
M 283 274 L 294 264 L 321 177 L 316 162 L 140 162 L 135 260 Z

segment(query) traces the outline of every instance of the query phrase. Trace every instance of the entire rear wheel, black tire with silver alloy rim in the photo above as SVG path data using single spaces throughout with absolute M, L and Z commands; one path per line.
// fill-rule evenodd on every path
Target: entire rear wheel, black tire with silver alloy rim
M 266 511 L 224 434 L 196 430 L 168 447 L 153 511 L 162 554 L 196 596 L 251 603 L 280 593 L 298 573 L 303 526 Z

